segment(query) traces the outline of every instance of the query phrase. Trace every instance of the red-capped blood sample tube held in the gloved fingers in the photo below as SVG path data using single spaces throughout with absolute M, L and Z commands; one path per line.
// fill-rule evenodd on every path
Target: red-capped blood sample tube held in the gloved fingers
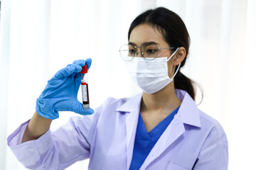
M 90 108 L 86 64 L 84 67 L 82 67 L 82 71 L 80 73 L 81 73 L 81 89 L 82 89 L 82 107 L 83 109 L 86 110 Z

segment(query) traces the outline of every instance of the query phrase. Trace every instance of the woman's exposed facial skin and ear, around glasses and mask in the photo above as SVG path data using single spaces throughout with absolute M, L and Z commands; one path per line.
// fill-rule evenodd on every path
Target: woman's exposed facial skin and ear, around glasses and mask
M 129 37 L 129 44 L 141 47 L 148 42 L 156 43 L 157 47 L 169 47 L 169 44 L 164 40 L 164 36 L 159 32 L 159 30 L 148 24 L 141 24 L 132 30 Z M 171 54 L 171 50 L 161 49 L 159 50 L 157 57 L 167 57 L 169 59 Z M 139 52 L 139 55 L 135 57 L 142 57 L 141 52 Z M 174 57 L 172 57 L 168 62 L 169 77 L 172 77 L 174 74 L 174 65 L 172 64 L 173 58 Z

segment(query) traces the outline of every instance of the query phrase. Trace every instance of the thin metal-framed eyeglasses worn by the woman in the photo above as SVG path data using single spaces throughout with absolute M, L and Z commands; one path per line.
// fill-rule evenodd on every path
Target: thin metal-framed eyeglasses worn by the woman
M 145 60 L 154 60 L 157 57 L 159 50 L 174 49 L 175 47 L 157 47 L 154 43 L 144 44 L 142 47 L 127 44 L 120 47 L 119 53 L 124 61 L 131 61 L 134 56 L 138 57 L 138 48 L 141 49 L 142 57 L 144 57 Z

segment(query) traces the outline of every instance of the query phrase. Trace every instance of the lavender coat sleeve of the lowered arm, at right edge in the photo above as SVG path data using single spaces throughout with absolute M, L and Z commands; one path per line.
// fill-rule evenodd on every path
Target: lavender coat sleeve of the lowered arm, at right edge
M 228 140 L 220 124 L 209 133 L 193 170 L 227 170 Z

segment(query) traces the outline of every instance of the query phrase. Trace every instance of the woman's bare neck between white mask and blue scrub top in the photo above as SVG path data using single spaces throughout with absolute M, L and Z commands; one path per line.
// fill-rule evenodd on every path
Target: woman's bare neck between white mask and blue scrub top
M 181 105 L 176 96 L 174 81 L 154 94 L 142 94 L 141 112 L 171 113 Z

